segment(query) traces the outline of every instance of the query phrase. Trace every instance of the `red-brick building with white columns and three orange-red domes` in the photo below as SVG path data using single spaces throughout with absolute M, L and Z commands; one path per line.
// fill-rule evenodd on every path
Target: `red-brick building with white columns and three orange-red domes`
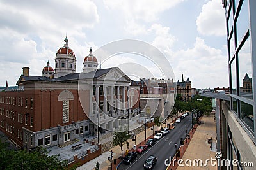
M 0 131 L 20 148 L 49 148 L 115 131 L 130 113 L 140 113 L 138 90 L 126 74 L 118 67 L 98 69 L 92 49 L 83 72 L 76 73 L 75 53 L 64 41 L 55 69 L 48 62 L 42 76 L 31 76 L 24 67 L 18 88 L 0 92 Z

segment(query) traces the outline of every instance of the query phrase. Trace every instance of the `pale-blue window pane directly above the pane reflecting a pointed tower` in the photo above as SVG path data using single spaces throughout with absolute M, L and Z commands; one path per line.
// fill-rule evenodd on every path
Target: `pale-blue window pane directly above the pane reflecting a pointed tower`
M 241 42 L 248 28 L 249 28 L 248 1 L 244 1 L 236 21 L 237 44 Z

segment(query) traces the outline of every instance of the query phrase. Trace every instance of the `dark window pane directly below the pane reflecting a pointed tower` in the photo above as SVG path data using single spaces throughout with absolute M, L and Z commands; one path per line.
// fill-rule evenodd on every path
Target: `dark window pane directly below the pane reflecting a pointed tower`
M 240 118 L 243 122 L 254 132 L 254 117 L 253 117 L 253 106 L 243 101 L 240 101 L 241 112 Z

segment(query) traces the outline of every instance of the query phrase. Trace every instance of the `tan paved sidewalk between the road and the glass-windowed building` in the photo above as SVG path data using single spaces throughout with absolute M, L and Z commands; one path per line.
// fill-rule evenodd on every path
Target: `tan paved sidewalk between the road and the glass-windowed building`
M 177 166 L 177 162 L 175 166 L 169 167 L 169 169 L 217 169 L 217 166 L 211 166 L 211 162 L 209 161 L 207 166 L 193 166 L 193 160 L 201 159 L 202 163 L 205 164 L 206 159 L 215 159 L 216 154 L 216 124 L 214 120 L 214 113 L 211 113 L 209 117 L 202 117 L 202 121 L 204 124 L 198 125 L 195 133 L 193 134 L 193 138 L 189 140 L 189 145 L 185 143 L 183 149 L 185 148 L 185 153 L 180 155 L 179 159 L 186 161 L 186 159 L 191 160 L 192 166 L 186 166 L 183 162 L 184 167 Z M 208 143 L 208 139 L 212 139 L 212 143 Z M 212 147 L 211 147 L 212 146 Z

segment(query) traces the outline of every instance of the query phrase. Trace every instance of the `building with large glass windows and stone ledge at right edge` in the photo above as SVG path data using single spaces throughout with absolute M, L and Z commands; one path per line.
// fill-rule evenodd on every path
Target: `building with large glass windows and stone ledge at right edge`
M 218 152 L 222 153 L 221 160 L 230 160 L 230 165 L 223 162 L 218 168 L 255 169 L 256 1 L 223 0 L 222 3 L 227 22 L 230 96 L 208 96 L 216 98 Z M 235 159 L 248 167 L 232 164 Z

